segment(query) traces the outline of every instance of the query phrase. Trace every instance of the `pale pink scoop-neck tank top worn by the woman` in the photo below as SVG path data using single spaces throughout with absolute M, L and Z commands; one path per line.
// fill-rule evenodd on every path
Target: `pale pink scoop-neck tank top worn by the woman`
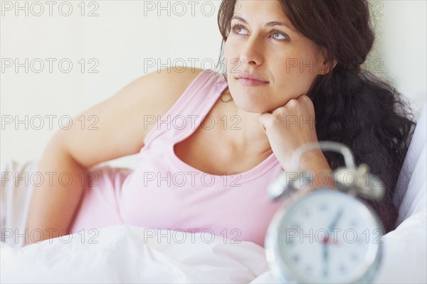
M 271 154 L 255 168 L 243 173 L 212 175 L 184 163 L 174 153 L 174 145 L 191 136 L 198 127 L 211 127 L 206 122 L 209 119 L 204 125 L 201 121 L 226 87 L 227 82 L 222 75 L 204 70 L 161 119 L 146 116 L 147 123 L 153 119 L 157 123 L 145 138 L 135 170 L 117 174 L 117 170 L 109 168 L 110 180 L 114 181 L 102 182 L 102 186 L 113 187 L 112 190 L 105 193 L 103 189 L 102 197 L 93 197 L 93 200 L 103 199 L 105 204 L 108 198 L 114 200 L 110 201 L 113 208 L 110 207 L 107 213 L 109 217 L 104 217 L 110 221 L 97 220 L 97 224 L 122 223 L 207 232 L 220 238 L 253 241 L 264 246 L 268 225 L 283 204 L 270 201 L 266 192 L 268 183 L 282 170 L 275 155 Z M 215 149 L 206 148 L 206 151 Z M 90 205 L 86 198 L 85 203 L 83 208 L 87 210 L 96 206 Z M 95 211 L 92 209 L 92 212 Z M 98 214 L 97 218 L 102 218 L 103 214 Z M 90 227 L 81 210 L 79 215 L 73 232 Z

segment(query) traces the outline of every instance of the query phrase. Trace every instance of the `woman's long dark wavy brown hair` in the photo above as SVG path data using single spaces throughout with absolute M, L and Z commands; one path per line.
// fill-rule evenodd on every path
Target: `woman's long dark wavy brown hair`
M 386 187 L 384 199 L 368 202 L 389 232 L 396 227 L 393 203 L 397 178 L 416 126 L 408 101 L 390 84 L 360 70 L 374 45 L 367 0 L 278 0 L 293 26 L 325 48 L 330 72 L 318 75 L 307 96 L 315 106 L 319 141 L 337 141 L 352 149 L 357 164 L 366 163 Z M 236 0 L 223 0 L 218 27 L 223 44 L 230 32 Z M 335 67 L 333 60 L 337 61 Z M 333 68 L 332 68 L 333 67 Z M 226 74 L 223 74 L 226 77 Z M 332 169 L 341 155 L 325 152 Z

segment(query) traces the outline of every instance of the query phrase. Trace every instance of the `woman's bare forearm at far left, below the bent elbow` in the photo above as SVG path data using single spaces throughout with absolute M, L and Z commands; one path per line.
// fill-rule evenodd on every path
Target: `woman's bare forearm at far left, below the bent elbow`
M 39 161 L 38 173 L 45 178 L 41 187 L 33 189 L 24 245 L 69 234 L 68 226 L 83 196 L 84 187 L 80 181 L 88 170 L 63 148 L 59 140 L 58 136 L 53 137 Z M 63 182 L 60 182 L 60 175 L 65 177 Z M 48 176 L 53 178 L 48 180 Z M 68 182 L 70 176 L 72 182 Z M 40 231 L 43 234 L 38 234 Z

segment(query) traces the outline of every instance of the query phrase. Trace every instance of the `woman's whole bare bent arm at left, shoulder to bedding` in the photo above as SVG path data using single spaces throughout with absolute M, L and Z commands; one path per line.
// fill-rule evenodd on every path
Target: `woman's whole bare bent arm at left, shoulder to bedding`
M 70 229 L 83 197 L 83 175 L 87 176 L 93 165 L 138 153 L 154 126 L 145 125 L 144 116 L 166 113 L 200 71 L 187 68 L 183 73 L 168 73 L 165 69 L 144 75 L 112 98 L 76 116 L 70 129 L 58 131 L 38 165 L 39 173 L 53 172 L 55 178 L 51 184 L 34 187 L 26 224 L 28 232 L 41 230 L 43 239 L 65 235 L 61 230 Z M 81 115 L 96 117 L 97 129 L 81 129 Z M 60 182 L 61 173 L 72 176 L 73 181 Z M 26 238 L 24 245 L 41 240 Z

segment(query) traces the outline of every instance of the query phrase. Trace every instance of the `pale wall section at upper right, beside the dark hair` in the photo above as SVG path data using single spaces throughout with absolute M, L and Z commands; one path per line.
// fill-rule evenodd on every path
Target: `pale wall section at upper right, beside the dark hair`
M 397 87 L 419 116 L 426 104 L 427 1 L 370 0 L 369 3 L 376 27 L 376 44 L 367 60 L 369 70 Z

